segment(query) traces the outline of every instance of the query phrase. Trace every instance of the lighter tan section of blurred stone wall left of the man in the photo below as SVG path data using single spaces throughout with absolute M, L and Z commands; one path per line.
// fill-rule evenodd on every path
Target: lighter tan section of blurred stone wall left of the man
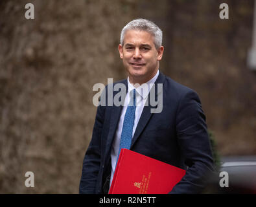
M 33 3 L 35 19 L 25 19 Z M 134 1 L 0 1 L 0 193 L 78 193 L 93 85 L 124 78 Z M 35 187 L 26 188 L 33 171 Z

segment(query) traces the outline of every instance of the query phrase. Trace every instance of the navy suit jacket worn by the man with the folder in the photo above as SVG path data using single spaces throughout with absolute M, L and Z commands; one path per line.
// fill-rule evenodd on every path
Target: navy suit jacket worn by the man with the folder
M 117 83 L 124 83 L 127 89 L 127 80 Z M 156 87 L 154 94 L 163 93 L 163 110 L 150 113 L 154 108 L 150 104 L 143 108 L 130 149 L 187 170 L 170 193 L 200 193 L 205 179 L 213 171 L 200 99 L 192 89 L 174 82 L 161 72 L 157 83 L 163 83 L 163 89 L 157 91 Z M 113 91 L 113 97 L 117 93 Z M 115 105 L 97 108 L 93 135 L 82 166 L 80 193 L 102 193 L 104 181 L 111 173 L 110 151 L 121 109 L 122 106 Z

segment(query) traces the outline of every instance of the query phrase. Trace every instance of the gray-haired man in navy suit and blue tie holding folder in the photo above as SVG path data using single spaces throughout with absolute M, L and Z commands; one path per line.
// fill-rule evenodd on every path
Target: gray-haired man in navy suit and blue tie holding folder
M 104 94 L 111 91 L 114 97 L 117 92 L 113 86 L 122 83 L 126 104 L 99 105 L 84 157 L 80 193 L 108 193 L 121 148 L 186 169 L 170 193 L 203 190 L 208 173 L 213 171 L 205 115 L 192 89 L 159 72 L 164 50 L 161 43 L 162 32 L 152 21 L 135 19 L 122 29 L 119 54 L 128 79 L 107 85 Z M 141 93 L 143 83 L 148 91 Z M 156 87 L 152 94 L 150 83 L 160 84 L 162 89 Z M 152 113 L 158 106 L 146 104 L 146 100 L 150 96 L 159 100 L 159 94 L 163 99 L 157 105 L 162 109 Z M 131 102 L 135 107 L 127 104 Z

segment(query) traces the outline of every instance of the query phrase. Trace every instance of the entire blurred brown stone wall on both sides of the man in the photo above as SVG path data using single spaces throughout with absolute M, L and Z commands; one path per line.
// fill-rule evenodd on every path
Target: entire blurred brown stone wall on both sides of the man
M 198 92 L 220 153 L 255 155 L 256 73 L 246 66 L 253 1 L 225 1 L 229 20 L 220 20 L 223 2 L 0 1 L 0 193 L 78 193 L 92 88 L 126 78 L 117 45 L 135 17 L 163 29 L 160 69 Z

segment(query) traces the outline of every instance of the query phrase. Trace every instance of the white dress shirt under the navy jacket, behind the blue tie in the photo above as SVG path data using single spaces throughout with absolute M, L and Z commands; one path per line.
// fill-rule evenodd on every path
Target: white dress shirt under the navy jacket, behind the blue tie
M 151 80 L 149 80 L 148 82 L 146 82 L 143 85 L 136 87 L 136 88 L 134 87 L 134 85 L 132 83 L 130 83 L 129 77 L 128 77 L 128 93 L 126 94 L 124 106 L 122 107 L 121 116 L 119 119 L 119 123 L 117 125 L 117 131 L 115 132 L 115 137 L 114 137 L 113 144 L 111 147 L 110 186 L 111 186 L 111 182 L 113 180 L 113 175 L 115 172 L 115 164 L 117 162 L 117 155 L 119 153 L 119 146 L 120 146 L 120 140 L 121 140 L 122 124 L 124 123 L 124 115 L 126 113 L 127 105 L 130 100 L 130 91 L 132 91 L 134 89 L 136 90 L 136 110 L 135 110 L 134 128 L 132 130 L 132 136 L 134 136 L 135 129 L 139 122 L 139 118 L 141 118 L 141 113 L 142 113 L 144 105 L 146 103 L 146 98 L 148 97 L 150 89 L 153 86 L 152 83 L 156 82 L 158 75 L 159 75 L 159 71 L 157 71 L 156 75 Z

